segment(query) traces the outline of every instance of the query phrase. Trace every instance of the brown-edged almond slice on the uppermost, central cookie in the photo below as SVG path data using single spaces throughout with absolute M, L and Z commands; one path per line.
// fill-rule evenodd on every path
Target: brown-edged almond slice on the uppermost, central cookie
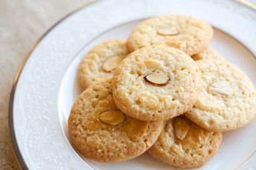
M 149 73 L 148 75 L 145 75 L 143 78 L 146 82 L 158 86 L 167 85 L 167 83 L 170 81 L 170 78 L 162 72 Z

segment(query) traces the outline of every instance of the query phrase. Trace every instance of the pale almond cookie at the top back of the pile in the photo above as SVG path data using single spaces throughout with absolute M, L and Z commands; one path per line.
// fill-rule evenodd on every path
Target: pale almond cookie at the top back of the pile
M 190 16 L 160 16 L 141 22 L 129 35 L 129 52 L 149 45 L 169 45 L 193 55 L 205 49 L 214 35 L 212 27 Z

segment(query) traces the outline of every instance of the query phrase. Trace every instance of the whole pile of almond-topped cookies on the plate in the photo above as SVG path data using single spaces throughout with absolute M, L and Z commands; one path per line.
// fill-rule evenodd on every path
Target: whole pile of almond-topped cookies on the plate
M 89 51 L 79 68 L 85 90 L 68 121 L 77 151 L 107 163 L 147 151 L 180 168 L 204 165 L 222 131 L 241 128 L 256 114 L 254 84 L 207 47 L 213 35 L 194 17 L 154 17 L 127 41 Z

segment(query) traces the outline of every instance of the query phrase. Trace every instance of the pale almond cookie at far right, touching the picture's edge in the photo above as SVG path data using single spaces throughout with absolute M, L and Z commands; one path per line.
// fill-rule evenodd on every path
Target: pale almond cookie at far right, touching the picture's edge
M 256 90 L 237 66 L 223 60 L 197 60 L 203 91 L 185 113 L 209 131 L 235 130 L 247 125 L 256 114 Z

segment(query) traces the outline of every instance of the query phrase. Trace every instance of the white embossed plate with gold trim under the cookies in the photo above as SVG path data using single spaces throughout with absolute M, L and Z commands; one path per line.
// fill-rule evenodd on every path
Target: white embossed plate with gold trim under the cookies
M 23 169 L 176 169 L 147 154 L 115 164 L 81 158 L 66 131 L 71 105 L 81 93 L 77 67 L 84 54 L 104 40 L 126 39 L 138 22 L 164 14 L 187 14 L 212 24 L 215 36 L 210 47 L 239 65 L 256 84 L 255 11 L 222 0 L 94 2 L 47 32 L 17 73 L 9 123 Z M 224 133 L 218 153 L 199 169 L 256 169 L 255 151 L 256 120 Z

